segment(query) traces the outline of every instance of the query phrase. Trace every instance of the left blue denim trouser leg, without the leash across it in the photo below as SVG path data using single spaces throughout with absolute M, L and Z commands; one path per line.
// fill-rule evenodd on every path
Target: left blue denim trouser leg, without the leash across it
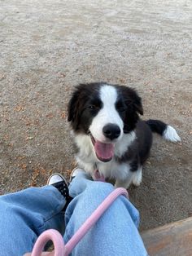
M 0 196 L 0 256 L 32 251 L 37 236 L 48 228 L 63 232 L 64 204 L 63 196 L 53 186 Z

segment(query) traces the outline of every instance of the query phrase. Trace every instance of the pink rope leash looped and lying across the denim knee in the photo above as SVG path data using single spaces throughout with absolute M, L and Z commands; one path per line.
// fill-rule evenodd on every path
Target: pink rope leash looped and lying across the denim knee
M 98 205 L 98 208 L 94 210 L 93 214 L 85 220 L 85 223 L 76 231 L 72 238 L 64 245 L 63 237 L 56 230 L 50 229 L 43 232 L 41 236 L 38 237 L 34 247 L 32 256 L 41 256 L 42 249 L 46 245 L 47 241 L 53 241 L 55 247 L 55 253 L 53 256 L 68 256 L 72 252 L 72 249 L 76 244 L 81 241 L 82 237 L 89 231 L 89 229 L 98 221 L 98 218 L 107 210 L 107 208 L 112 204 L 113 201 L 120 195 L 128 197 L 128 192 L 124 188 L 116 188 L 111 192 L 104 201 Z

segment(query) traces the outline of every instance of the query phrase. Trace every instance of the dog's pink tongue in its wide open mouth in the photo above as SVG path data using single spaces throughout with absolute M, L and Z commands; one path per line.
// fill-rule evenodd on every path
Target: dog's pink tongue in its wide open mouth
M 96 141 L 94 143 L 94 150 L 100 160 L 110 161 L 114 155 L 114 144 Z

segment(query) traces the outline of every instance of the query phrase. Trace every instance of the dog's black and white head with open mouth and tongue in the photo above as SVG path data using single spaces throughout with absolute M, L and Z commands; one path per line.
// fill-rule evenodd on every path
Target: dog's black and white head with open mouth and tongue
M 143 114 L 142 100 L 135 90 L 104 82 L 76 86 L 68 104 L 72 130 L 90 136 L 100 161 L 111 160 L 115 143 L 134 130 L 138 113 Z

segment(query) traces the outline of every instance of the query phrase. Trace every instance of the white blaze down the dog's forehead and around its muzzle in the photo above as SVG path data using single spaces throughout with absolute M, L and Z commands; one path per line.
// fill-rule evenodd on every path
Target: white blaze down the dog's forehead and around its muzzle
M 124 123 L 120 118 L 119 113 L 116 111 L 116 88 L 107 85 L 102 86 L 100 89 L 100 99 L 103 102 L 103 108 L 101 108 L 97 116 L 94 117 L 89 130 L 94 136 L 94 139 L 97 139 L 100 142 L 105 142 L 106 138 L 103 135 L 103 127 L 108 123 L 116 124 L 120 127 L 120 137 L 117 139 L 119 140 L 123 135 Z

